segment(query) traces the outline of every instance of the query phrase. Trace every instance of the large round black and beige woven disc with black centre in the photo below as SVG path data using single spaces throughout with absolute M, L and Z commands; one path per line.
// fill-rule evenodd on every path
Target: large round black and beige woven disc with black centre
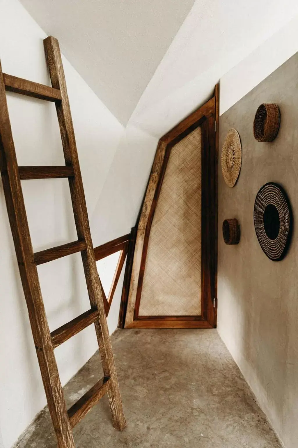
M 253 220 L 256 236 L 270 260 L 284 258 L 292 236 L 292 211 L 285 190 L 273 182 L 256 195 Z

